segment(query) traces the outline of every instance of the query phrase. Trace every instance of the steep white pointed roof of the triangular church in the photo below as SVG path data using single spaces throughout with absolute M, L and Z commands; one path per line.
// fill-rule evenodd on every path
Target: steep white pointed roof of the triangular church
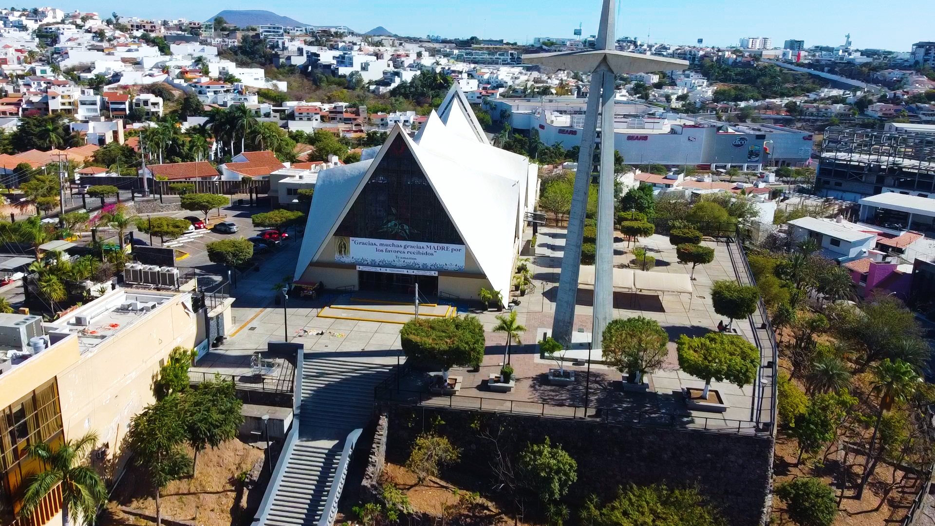
M 415 139 L 397 124 L 378 153 L 366 152 L 367 160 L 319 172 L 295 276 L 321 255 L 390 144 L 401 137 L 468 253 L 493 288 L 508 296 L 515 240 L 525 212 L 526 179 L 535 178 L 537 170 L 530 168 L 525 156 L 487 143 L 480 124 L 474 128 L 471 119 L 476 123 L 476 117 L 456 86 L 445 98 L 449 104 L 441 106 L 449 124 L 433 111 Z M 472 129 L 479 133 L 469 133 Z

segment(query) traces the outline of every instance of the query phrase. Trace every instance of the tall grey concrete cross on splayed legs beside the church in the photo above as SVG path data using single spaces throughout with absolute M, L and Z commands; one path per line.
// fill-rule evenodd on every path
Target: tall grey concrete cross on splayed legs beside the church
M 597 191 L 597 257 L 595 259 L 594 318 L 591 341 L 600 346 L 604 328 L 613 316 L 613 81 L 616 75 L 646 71 L 685 69 L 683 60 L 616 51 L 614 46 L 613 0 L 604 0 L 600 11 L 596 49 L 593 51 L 563 51 L 525 55 L 524 62 L 569 71 L 591 72 L 591 87 L 587 95 L 578 173 L 575 175 L 568 233 L 562 256 L 562 273 L 558 282 L 558 299 L 552 322 L 555 340 L 571 343 L 578 296 L 578 273 L 582 253 L 584 214 L 587 209 L 588 187 L 592 159 L 597 139 L 597 115 L 600 114 L 600 169 Z

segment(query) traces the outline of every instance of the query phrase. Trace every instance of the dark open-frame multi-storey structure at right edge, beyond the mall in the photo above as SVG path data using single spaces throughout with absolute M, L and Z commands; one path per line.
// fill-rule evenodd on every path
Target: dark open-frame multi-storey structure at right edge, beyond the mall
M 818 179 L 935 192 L 932 135 L 829 127 L 820 160 Z

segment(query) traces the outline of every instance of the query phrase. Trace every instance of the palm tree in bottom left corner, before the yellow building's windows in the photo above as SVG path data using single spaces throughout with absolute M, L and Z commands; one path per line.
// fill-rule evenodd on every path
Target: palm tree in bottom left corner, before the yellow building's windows
M 91 524 L 97 506 L 108 501 L 104 481 L 85 459 L 97 445 L 97 433 L 90 431 L 79 440 L 69 440 L 57 449 L 45 443 L 26 446 L 26 452 L 42 462 L 44 471 L 33 475 L 22 497 L 22 517 L 30 517 L 42 499 L 62 485 L 62 517 L 65 526 L 69 519 Z

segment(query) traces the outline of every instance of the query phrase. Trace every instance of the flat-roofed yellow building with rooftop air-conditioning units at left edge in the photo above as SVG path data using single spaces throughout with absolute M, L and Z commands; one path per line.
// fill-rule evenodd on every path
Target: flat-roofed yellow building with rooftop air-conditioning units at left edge
M 152 380 L 169 352 L 194 347 L 198 316 L 190 293 L 118 288 L 53 323 L 0 315 L 0 524 L 20 509 L 37 462 L 27 445 L 100 436 L 94 464 L 105 477 L 120 464 L 130 419 L 154 402 Z M 54 490 L 23 525 L 58 524 Z

